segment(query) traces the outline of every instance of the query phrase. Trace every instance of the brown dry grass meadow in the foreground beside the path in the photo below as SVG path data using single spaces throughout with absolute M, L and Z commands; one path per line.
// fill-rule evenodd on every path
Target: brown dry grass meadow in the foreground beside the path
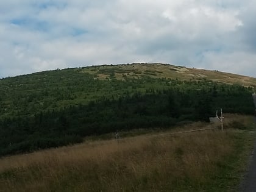
M 227 124 L 251 121 L 235 119 Z M 1 158 L 0 191 L 238 190 L 254 134 L 237 129 L 165 133 Z

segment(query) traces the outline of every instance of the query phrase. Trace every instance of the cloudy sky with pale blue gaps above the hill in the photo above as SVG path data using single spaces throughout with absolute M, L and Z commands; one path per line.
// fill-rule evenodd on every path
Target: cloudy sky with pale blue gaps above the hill
M 256 77 L 253 0 L 0 1 L 0 78 L 169 63 Z

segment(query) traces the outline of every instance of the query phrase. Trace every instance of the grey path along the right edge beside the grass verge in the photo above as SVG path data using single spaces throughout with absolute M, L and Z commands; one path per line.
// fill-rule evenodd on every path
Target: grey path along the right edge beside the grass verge
M 253 94 L 252 96 L 254 98 L 254 105 L 256 108 L 256 94 Z M 254 116 L 254 124 L 256 126 L 256 116 Z M 254 151 L 252 154 L 253 155 L 249 166 L 249 172 L 246 175 L 244 183 L 241 187 L 241 191 L 243 192 L 256 192 L 256 140 L 254 142 Z

